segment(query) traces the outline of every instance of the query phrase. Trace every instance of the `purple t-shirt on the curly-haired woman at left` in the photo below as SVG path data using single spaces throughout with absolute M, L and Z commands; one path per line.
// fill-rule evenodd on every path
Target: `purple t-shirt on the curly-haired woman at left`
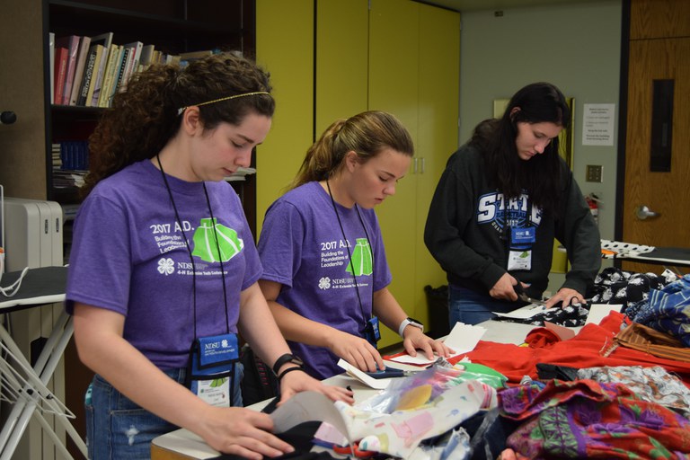
M 195 323 L 196 337 L 237 332 L 240 292 L 261 276 L 233 188 L 206 182 L 219 257 L 203 183 L 166 178 L 182 229 L 163 176 L 148 160 L 92 190 L 75 219 L 66 287 L 68 313 L 81 302 L 123 314 L 124 338 L 163 369 L 187 366 Z

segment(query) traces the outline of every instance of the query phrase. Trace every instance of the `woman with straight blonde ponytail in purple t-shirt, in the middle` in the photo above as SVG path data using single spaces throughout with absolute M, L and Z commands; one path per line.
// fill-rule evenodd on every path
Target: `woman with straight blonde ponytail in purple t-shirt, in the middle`
M 391 272 L 374 207 L 410 167 L 410 134 L 393 115 L 366 111 L 335 121 L 309 148 L 291 190 L 266 213 L 259 281 L 280 331 L 312 376 L 384 368 L 378 319 L 405 349 L 428 358 L 448 349 L 407 317 L 387 286 Z

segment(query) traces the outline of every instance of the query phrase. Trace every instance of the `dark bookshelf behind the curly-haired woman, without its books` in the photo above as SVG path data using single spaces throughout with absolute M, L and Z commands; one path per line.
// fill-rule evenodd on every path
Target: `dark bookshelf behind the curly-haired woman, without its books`
M 83 2 L 43 0 L 43 68 L 46 95 L 46 152 L 53 144 L 84 140 L 102 113 L 103 108 L 50 103 L 51 82 L 48 70 L 49 33 L 56 39 L 70 35 L 94 37 L 112 32 L 112 43 L 126 45 L 139 41 L 155 45 L 167 54 L 200 49 L 242 50 L 252 56 L 254 51 L 253 0 L 216 2 L 213 0 L 90 0 Z M 58 188 L 53 180 L 51 155 L 46 162 L 47 199 L 60 203 L 78 201 L 76 189 Z M 248 181 L 234 182 L 244 197 L 248 214 L 253 214 L 254 193 L 246 190 Z M 249 216 L 248 216 L 249 217 Z

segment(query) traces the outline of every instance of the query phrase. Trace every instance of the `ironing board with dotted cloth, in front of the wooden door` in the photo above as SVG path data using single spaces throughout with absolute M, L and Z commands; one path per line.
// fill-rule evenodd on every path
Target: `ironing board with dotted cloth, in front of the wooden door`
M 644 244 L 601 240 L 601 257 L 603 259 L 640 261 L 677 267 L 690 267 L 690 248 L 659 248 Z

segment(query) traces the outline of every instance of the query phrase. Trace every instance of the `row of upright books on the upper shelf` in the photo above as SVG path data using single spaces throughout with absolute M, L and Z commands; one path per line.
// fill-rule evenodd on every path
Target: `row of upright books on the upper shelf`
M 185 65 L 188 60 L 217 50 L 168 54 L 134 41 L 112 42 L 113 32 L 94 37 L 57 37 L 50 32 L 50 102 L 54 105 L 110 107 L 112 96 L 127 86 L 129 78 L 152 64 Z

